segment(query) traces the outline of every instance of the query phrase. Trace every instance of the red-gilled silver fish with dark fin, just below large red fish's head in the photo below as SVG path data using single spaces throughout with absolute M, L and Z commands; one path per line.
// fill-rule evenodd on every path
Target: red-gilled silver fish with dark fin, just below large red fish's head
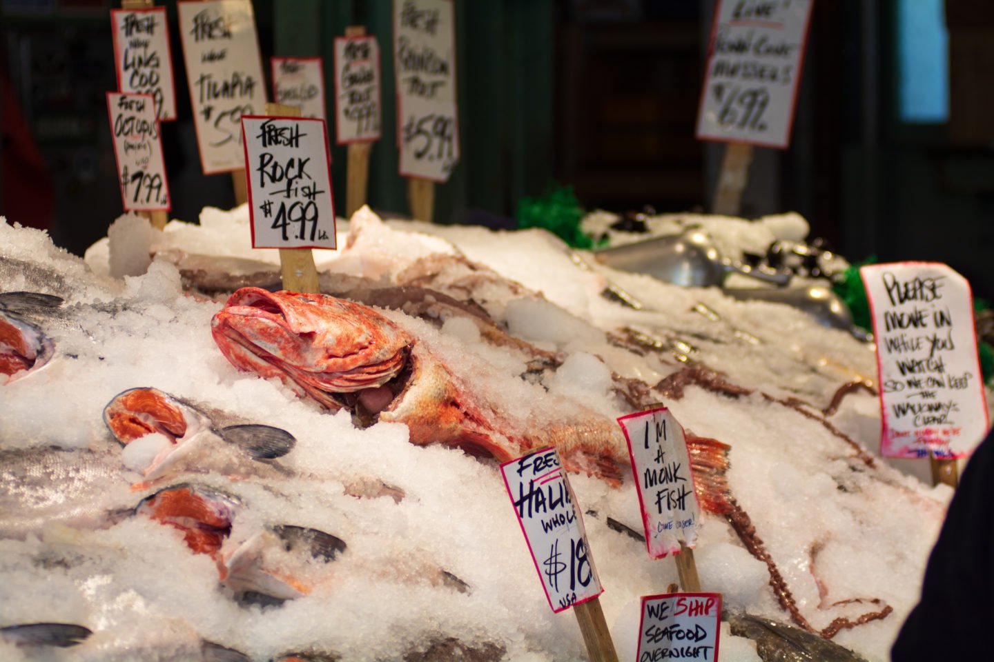
M 118 393 L 103 408 L 103 422 L 122 446 L 148 444 L 147 454 L 134 452 L 145 478 L 136 483 L 139 488 L 168 475 L 211 470 L 233 477 L 279 477 L 285 472 L 267 461 L 285 456 L 296 444 L 293 435 L 273 426 L 218 427 L 200 407 L 153 387 Z

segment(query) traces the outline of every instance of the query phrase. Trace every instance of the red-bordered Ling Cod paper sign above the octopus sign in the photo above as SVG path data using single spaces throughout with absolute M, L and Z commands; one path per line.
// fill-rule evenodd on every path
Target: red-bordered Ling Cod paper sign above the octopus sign
M 118 91 L 151 94 L 156 117 L 176 119 L 176 83 L 166 9 L 113 9 L 110 23 Z

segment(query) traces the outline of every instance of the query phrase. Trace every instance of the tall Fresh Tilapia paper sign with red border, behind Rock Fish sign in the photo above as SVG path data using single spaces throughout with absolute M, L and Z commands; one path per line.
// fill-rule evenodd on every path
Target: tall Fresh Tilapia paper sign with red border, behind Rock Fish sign
M 265 103 L 251 3 L 181 0 L 177 9 L 204 174 L 244 168 L 242 116 Z

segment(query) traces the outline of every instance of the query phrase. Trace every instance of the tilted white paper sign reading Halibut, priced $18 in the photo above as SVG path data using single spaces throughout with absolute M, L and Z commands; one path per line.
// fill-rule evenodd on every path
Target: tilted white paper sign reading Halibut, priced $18
M 559 612 L 603 593 L 556 449 L 501 464 L 546 599 Z

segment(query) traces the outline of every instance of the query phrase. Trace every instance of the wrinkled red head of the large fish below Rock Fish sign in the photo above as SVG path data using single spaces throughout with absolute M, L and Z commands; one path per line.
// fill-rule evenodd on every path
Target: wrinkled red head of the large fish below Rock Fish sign
M 321 294 L 243 288 L 214 316 L 215 342 L 235 367 L 278 377 L 337 410 L 344 394 L 377 389 L 405 367 L 414 338 L 373 309 Z

